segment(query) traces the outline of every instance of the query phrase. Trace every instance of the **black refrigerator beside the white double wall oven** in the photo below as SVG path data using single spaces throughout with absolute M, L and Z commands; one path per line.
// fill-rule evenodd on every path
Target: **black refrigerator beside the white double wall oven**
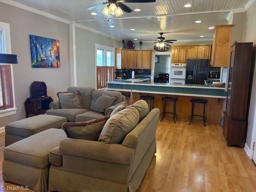
M 208 79 L 208 59 L 187 59 L 186 84 L 203 85 Z

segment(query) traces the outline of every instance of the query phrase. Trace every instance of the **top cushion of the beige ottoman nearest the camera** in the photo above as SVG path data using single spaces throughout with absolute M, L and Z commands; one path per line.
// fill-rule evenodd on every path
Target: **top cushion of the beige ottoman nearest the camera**
M 49 164 L 49 152 L 66 137 L 62 129 L 48 129 L 4 148 L 4 159 L 36 168 Z

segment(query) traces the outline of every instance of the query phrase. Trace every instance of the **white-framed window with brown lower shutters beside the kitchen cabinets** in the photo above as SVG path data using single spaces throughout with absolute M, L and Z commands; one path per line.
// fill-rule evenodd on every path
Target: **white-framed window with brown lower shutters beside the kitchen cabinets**
M 96 44 L 96 77 L 97 89 L 115 79 L 114 48 Z

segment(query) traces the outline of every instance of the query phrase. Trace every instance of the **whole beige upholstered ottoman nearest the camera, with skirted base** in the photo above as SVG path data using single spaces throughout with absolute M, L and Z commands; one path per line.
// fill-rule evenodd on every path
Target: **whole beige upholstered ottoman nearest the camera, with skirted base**
M 4 148 L 2 174 L 6 182 L 48 190 L 49 152 L 66 137 L 62 129 L 48 129 Z

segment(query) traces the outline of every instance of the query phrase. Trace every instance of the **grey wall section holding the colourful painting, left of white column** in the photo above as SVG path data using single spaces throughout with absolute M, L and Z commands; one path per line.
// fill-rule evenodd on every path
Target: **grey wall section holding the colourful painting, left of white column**
M 30 97 L 30 84 L 44 81 L 48 96 L 57 99 L 56 93 L 70 85 L 69 25 L 63 22 L 0 2 L 0 22 L 10 24 L 12 53 L 18 55 L 13 65 L 14 90 L 17 113 L 0 118 L 0 127 L 25 118 L 24 102 Z M 60 40 L 60 68 L 32 68 L 29 35 Z

